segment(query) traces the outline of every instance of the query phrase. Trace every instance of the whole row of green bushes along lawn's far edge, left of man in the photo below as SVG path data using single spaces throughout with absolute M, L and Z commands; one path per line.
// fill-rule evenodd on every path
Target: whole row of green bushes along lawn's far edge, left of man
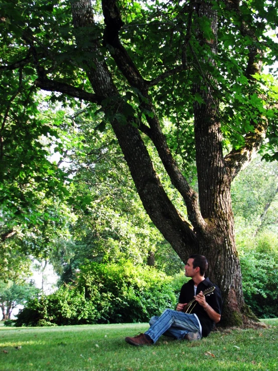
M 165 308 L 176 306 L 171 277 L 130 262 L 89 263 L 75 285 L 29 300 L 17 326 L 146 322 Z

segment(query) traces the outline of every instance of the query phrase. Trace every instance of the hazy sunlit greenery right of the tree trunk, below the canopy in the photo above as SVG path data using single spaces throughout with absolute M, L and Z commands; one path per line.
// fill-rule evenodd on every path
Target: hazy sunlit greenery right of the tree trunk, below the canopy
M 232 186 L 243 294 L 259 318 L 277 316 L 277 175 L 275 162 L 256 158 Z

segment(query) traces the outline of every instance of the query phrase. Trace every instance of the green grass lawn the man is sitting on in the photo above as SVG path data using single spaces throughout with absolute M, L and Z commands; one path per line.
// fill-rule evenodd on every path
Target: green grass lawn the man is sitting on
M 124 341 L 148 324 L 0 327 L 0 370 L 278 370 L 278 319 L 269 328 L 213 332 L 199 341 L 162 336 L 153 346 Z M 19 347 L 18 349 L 16 347 Z

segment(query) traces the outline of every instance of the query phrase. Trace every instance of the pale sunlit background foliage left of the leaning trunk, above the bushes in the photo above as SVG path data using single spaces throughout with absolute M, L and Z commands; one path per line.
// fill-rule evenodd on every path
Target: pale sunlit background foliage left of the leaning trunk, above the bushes
M 72 174 L 69 203 L 77 220 L 70 227 L 72 238 L 57 240 L 56 247 L 60 246 L 51 255 L 56 272 L 62 275 L 61 282 L 70 282 L 73 271 L 85 259 L 115 263 L 128 259 L 142 265 L 150 252 L 155 253 L 159 270 L 167 274 L 179 271 L 182 263 L 144 210 L 109 125 L 105 133 L 92 131 L 84 112 L 76 114 L 74 122 L 67 171 Z M 84 144 L 84 138 L 92 144 Z M 165 178 L 167 192 L 185 211 L 157 158 L 155 163 Z

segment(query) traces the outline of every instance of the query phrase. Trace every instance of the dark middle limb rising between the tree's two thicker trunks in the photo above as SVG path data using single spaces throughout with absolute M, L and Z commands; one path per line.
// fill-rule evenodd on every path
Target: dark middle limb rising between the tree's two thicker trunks
M 151 99 L 148 95 L 146 81 L 142 78 L 140 73 L 137 71 L 135 65 L 131 61 L 126 50 L 122 47 L 118 39 L 118 31 L 120 30 L 123 22 L 121 21 L 119 11 L 115 5 L 115 0 L 102 0 L 102 8 L 104 14 L 104 22 L 106 24 L 106 30 L 104 35 L 105 44 L 109 44 L 113 47 L 111 55 L 115 59 L 118 67 L 132 86 L 136 86 L 141 89 L 142 95 L 147 98 L 148 103 L 141 103 L 141 108 L 147 111 L 152 112 L 151 115 L 147 115 L 147 120 L 150 125 L 151 130 L 147 130 L 148 136 L 152 139 L 156 149 L 158 150 L 159 156 L 163 162 L 163 165 L 170 176 L 170 179 L 173 185 L 181 193 L 182 197 L 185 200 L 189 219 L 196 228 L 202 228 L 205 223 L 200 214 L 199 205 L 198 205 L 198 196 L 191 189 L 188 182 L 182 175 L 179 170 L 171 151 L 166 142 L 166 138 L 162 133 L 159 119 L 156 115 L 155 108 L 151 102 Z M 175 73 L 184 69 L 184 66 L 177 67 Z M 173 74 L 173 70 L 165 72 L 163 75 L 159 76 L 157 79 L 154 79 L 153 82 L 159 82 L 160 79 L 170 76 Z M 153 83 L 155 84 L 155 83 Z M 152 82 L 151 82 L 152 85 Z M 144 131 L 144 128 L 142 128 Z

